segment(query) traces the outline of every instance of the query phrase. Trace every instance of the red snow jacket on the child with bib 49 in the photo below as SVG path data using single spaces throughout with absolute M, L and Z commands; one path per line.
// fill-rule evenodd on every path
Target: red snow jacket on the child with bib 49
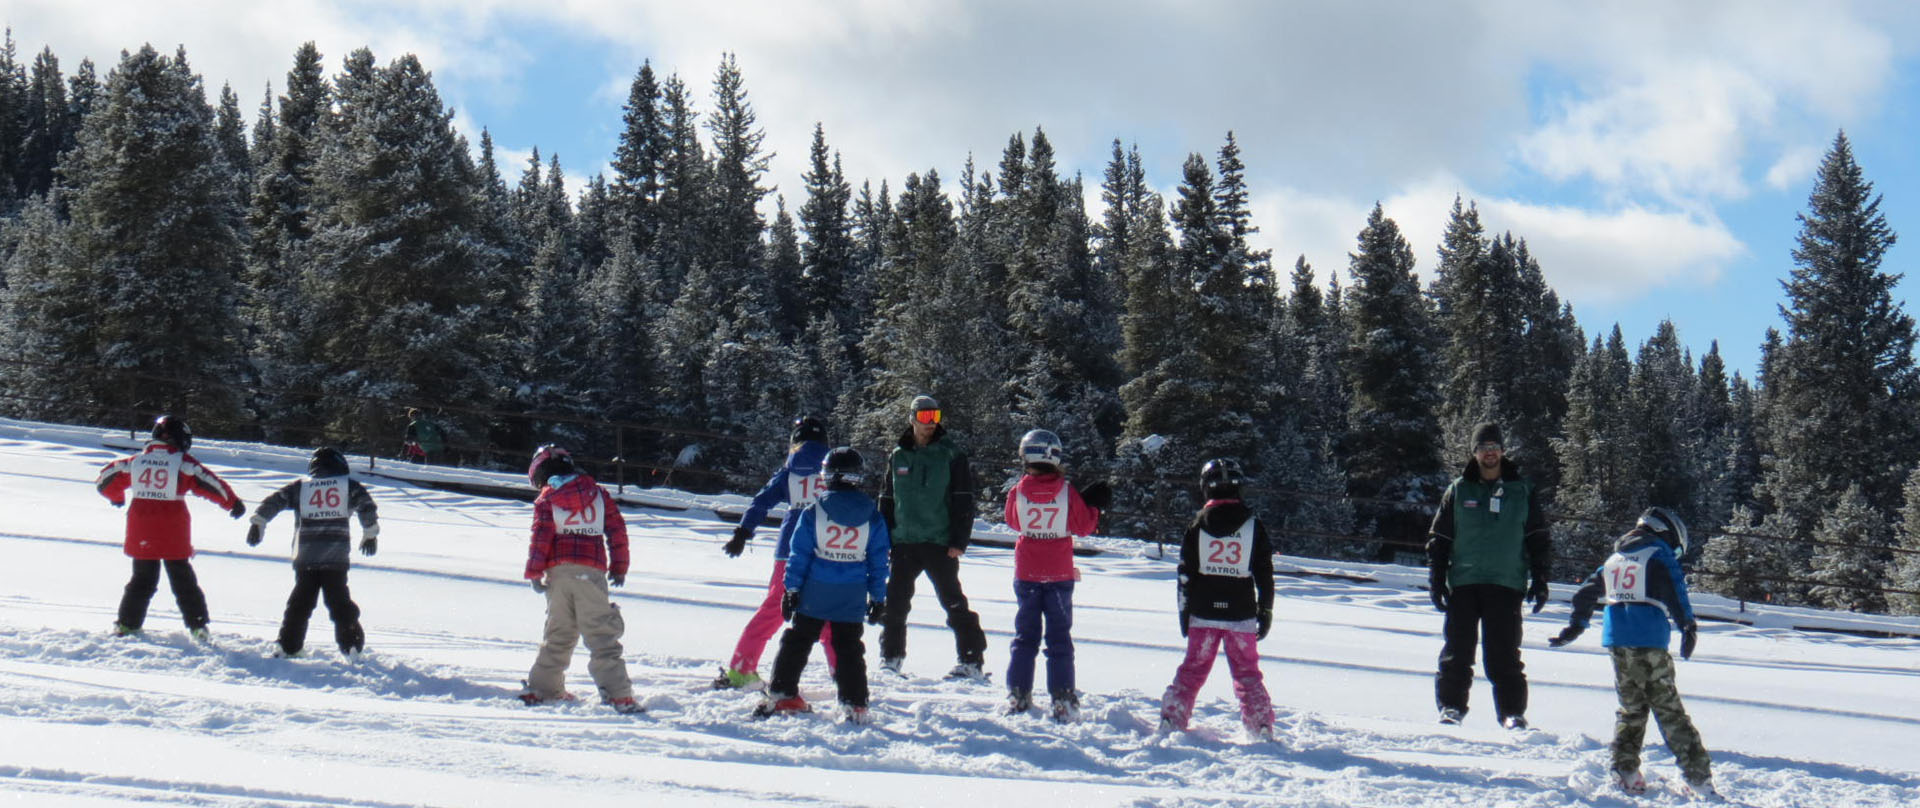
M 94 487 L 113 505 L 127 505 L 131 493 L 125 551 L 140 560 L 194 557 L 192 520 L 184 501 L 188 491 L 228 511 L 240 507 L 240 497 L 227 480 L 202 466 L 194 455 L 161 441 L 102 466 Z

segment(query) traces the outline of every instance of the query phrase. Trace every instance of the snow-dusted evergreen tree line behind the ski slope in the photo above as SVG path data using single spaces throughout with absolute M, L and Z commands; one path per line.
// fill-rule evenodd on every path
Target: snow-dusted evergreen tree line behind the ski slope
M 1236 457 L 1288 553 L 1382 560 L 1496 420 L 1555 512 L 1601 518 L 1557 524 L 1559 580 L 1605 555 L 1605 520 L 1668 505 L 1701 537 L 1791 537 L 1705 541 L 1707 589 L 1920 612 L 1885 591 L 1920 591 L 1914 322 L 1845 134 L 1749 380 L 1672 322 L 1632 347 L 1619 324 L 1588 338 L 1471 200 L 1425 284 L 1379 205 L 1325 286 L 1304 257 L 1277 269 L 1233 132 L 1171 196 L 1114 140 L 1092 211 L 1043 129 L 952 178 L 854 184 L 816 125 L 789 205 L 733 56 L 697 96 L 643 63 L 612 175 L 568 186 L 538 148 L 509 178 L 411 54 L 361 48 L 328 75 L 305 44 L 248 125 L 184 48 L 123 52 L 102 79 L 52 50 L 29 65 L 8 35 L 0 342 L 23 363 L 0 367 L 0 403 L 163 407 L 307 443 L 386 416 L 367 401 L 444 401 L 586 422 L 467 415 L 455 440 L 605 457 L 595 418 L 666 424 L 756 440 L 662 432 L 626 455 L 764 472 L 795 413 L 879 449 L 933 393 L 983 470 L 1027 428 L 1066 438 L 1077 474 L 1121 484 L 1114 530 L 1167 530 L 1200 463 Z M 173 382 L 69 370 L 92 367 Z

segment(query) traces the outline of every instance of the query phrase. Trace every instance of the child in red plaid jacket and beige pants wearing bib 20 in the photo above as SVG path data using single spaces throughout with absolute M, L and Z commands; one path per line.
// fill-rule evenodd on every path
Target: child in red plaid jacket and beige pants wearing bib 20
M 645 710 L 634 701 L 634 681 L 620 658 L 626 622 L 607 597 L 607 585 L 626 583 L 626 520 L 612 497 L 591 476 L 574 468 L 574 457 L 557 445 L 534 451 L 526 482 L 534 499 L 534 539 L 526 553 L 526 580 L 547 595 L 547 630 L 526 674 L 520 701 L 540 704 L 568 701 L 566 664 L 574 643 L 586 641 L 593 656 L 588 674 L 601 701 L 618 712 Z

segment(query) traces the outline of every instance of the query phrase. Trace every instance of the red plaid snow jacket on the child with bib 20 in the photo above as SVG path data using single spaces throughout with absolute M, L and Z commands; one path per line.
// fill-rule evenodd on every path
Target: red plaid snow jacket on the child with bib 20
M 591 476 L 557 476 L 534 499 L 534 541 L 526 551 L 526 580 L 538 582 L 559 564 L 584 564 L 626 576 L 626 518 L 612 495 Z M 609 564 L 609 551 L 612 555 Z

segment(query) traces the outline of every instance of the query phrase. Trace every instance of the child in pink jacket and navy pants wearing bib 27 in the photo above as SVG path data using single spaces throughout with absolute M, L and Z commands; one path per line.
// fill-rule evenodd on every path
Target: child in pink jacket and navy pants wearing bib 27
M 1020 532 L 1014 541 L 1014 645 L 1006 662 L 1006 714 L 1033 708 L 1033 662 L 1046 639 L 1046 693 L 1052 716 L 1068 724 L 1079 720 L 1079 693 L 1073 689 L 1073 537 L 1091 535 L 1100 526 L 1100 511 L 1114 499 L 1100 482 L 1081 493 L 1062 470 L 1066 447 L 1060 436 L 1033 430 L 1020 438 L 1025 476 L 1006 493 L 1006 526 Z

